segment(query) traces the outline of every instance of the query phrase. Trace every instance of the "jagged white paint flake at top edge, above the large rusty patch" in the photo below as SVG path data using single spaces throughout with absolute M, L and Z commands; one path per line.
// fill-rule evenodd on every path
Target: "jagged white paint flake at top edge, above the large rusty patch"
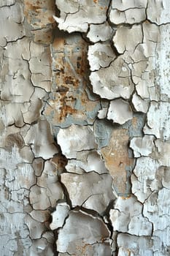
M 56 0 L 55 4 L 61 11 L 60 18 L 54 16 L 58 23 L 58 28 L 68 31 L 86 32 L 88 23 L 104 23 L 106 21 L 107 7 L 109 0 Z

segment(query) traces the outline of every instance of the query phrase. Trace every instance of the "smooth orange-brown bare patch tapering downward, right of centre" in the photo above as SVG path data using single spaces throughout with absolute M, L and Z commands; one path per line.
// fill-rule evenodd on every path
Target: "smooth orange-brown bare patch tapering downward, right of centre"
M 126 167 L 133 165 L 134 159 L 128 157 L 128 130 L 115 129 L 109 145 L 101 149 L 104 162 L 113 178 L 119 193 L 126 191 Z

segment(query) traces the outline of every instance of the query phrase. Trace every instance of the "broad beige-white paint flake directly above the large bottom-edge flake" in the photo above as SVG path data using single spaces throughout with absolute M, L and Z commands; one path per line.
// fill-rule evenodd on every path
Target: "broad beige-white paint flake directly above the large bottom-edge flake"
M 69 192 L 73 207 L 83 206 L 101 214 L 106 210 L 109 202 L 115 199 L 112 192 L 112 178 L 109 174 L 63 173 L 61 182 Z

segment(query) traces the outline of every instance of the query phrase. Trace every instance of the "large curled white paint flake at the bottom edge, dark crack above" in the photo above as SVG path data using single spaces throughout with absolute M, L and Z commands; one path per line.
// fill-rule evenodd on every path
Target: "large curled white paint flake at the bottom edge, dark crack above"
M 103 239 L 105 242 L 102 248 L 100 244 Z M 57 247 L 59 252 L 68 252 L 69 255 L 93 255 L 93 252 L 94 255 L 101 255 L 104 249 L 109 251 L 108 242 L 109 230 L 101 218 L 84 211 L 70 211 L 66 224 L 59 230 Z

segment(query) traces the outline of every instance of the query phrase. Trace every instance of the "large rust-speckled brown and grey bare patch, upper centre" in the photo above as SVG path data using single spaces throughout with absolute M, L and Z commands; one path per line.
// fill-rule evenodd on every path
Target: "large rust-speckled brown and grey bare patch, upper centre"
M 93 111 L 98 104 L 90 101 L 85 91 L 88 80 L 87 45 L 81 38 L 78 44 L 72 42 L 69 45 L 63 37 L 58 37 L 52 48 L 56 86 L 53 99 L 45 108 L 45 116 L 52 116 L 53 124 L 64 123 L 68 116 L 84 120 L 85 112 Z

